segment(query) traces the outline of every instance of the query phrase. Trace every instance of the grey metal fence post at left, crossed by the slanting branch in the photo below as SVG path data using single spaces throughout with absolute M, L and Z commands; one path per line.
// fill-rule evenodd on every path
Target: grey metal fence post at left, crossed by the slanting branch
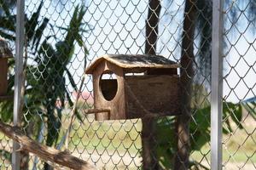
M 23 50 L 24 50 L 24 8 L 25 1 L 17 0 L 16 41 L 15 41 L 15 99 L 14 126 L 20 125 L 20 92 L 23 78 Z M 14 142 L 12 153 L 12 169 L 20 169 L 20 144 Z

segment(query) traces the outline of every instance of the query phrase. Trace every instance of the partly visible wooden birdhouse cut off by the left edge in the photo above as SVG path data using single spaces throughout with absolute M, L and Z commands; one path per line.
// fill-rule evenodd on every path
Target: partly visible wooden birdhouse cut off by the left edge
M 0 37 L 0 97 L 7 94 L 8 88 L 8 59 L 13 54 L 3 38 Z

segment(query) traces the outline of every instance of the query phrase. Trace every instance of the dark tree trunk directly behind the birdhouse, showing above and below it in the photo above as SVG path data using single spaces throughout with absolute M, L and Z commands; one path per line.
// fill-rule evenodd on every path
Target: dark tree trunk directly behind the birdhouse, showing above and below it
M 160 0 L 149 0 L 148 20 L 146 20 L 145 54 L 155 54 L 160 16 Z M 143 118 L 143 169 L 159 169 L 156 154 L 155 118 Z

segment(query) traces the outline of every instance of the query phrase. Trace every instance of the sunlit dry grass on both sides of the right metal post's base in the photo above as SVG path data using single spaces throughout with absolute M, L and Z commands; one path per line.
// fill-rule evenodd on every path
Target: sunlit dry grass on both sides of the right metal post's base
M 256 122 L 249 118 L 241 124 L 244 129 L 236 129 L 233 124 L 234 133 L 223 135 L 224 169 L 256 169 Z M 210 155 L 210 144 L 206 144 L 190 157 L 209 167 Z

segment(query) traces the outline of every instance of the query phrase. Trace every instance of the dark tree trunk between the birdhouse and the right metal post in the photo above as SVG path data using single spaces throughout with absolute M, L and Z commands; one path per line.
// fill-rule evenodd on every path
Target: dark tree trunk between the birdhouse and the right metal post
M 177 155 L 174 169 L 185 170 L 189 167 L 189 122 L 191 116 L 191 85 L 194 77 L 194 33 L 195 33 L 195 0 L 186 0 L 183 23 L 183 42 L 181 56 L 181 92 L 183 111 L 177 116 Z

